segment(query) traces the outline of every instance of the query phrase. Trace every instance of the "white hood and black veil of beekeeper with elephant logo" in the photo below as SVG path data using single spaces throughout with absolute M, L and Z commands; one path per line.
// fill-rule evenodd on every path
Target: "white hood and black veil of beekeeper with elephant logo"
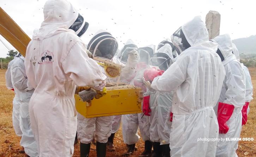
M 83 16 L 66 0 L 48 0 L 43 13 L 44 21 L 40 29 L 34 31 L 34 40 L 42 40 L 62 32 L 73 32 L 80 37 L 89 26 Z

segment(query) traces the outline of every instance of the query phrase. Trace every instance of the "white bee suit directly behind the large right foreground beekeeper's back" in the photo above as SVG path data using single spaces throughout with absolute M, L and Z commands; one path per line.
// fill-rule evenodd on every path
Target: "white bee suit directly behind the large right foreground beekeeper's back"
M 225 68 L 226 76 L 221 89 L 218 102 L 234 106 L 233 113 L 226 122 L 228 131 L 226 134 L 219 134 L 219 138 L 239 138 L 242 129 L 242 108 L 245 103 L 245 84 L 242 65 L 232 54 L 233 46 L 228 34 L 219 35 L 212 41 L 218 43 L 220 58 Z M 214 107 L 217 114 L 218 103 Z M 219 141 L 216 157 L 236 157 L 238 141 Z

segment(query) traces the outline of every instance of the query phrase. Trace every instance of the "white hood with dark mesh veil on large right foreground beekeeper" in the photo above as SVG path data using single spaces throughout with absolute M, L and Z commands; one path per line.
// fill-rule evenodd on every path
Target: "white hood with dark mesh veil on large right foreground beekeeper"
M 185 50 L 181 43 L 181 30 L 190 46 L 194 46 L 199 42 L 209 41 L 205 23 L 202 21 L 201 16 L 195 16 L 193 20 L 185 23 L 171 36 L 173 44 L 178 48 L 178 53 Z

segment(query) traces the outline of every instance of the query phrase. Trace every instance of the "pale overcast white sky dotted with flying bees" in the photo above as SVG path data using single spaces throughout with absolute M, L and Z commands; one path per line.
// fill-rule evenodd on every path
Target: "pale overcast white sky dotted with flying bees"
M 32 38 L 41 26 L 46 0 L 1 0 L 0 6 Z M 89 28 L 81 37 L 87 45 L 99 29 L 107 29 L 118 41 L 119 49 L 128 39 L 138 47 L 158 45 L 184 23 L 200 15 L 205 21 L 210 10 L 221 14 L 220 34 L 232 39 L 256 34 L 255 0 L 70 0 Z M 0 39 L 14 49 L 4 37 Z M 0 42 L 0 57 L 8 49 Z

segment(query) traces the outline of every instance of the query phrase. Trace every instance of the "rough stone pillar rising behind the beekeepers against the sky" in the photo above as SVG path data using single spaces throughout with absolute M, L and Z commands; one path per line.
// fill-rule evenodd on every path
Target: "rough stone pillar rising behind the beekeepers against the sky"
M 209 40 L 220 34 L 220 13 L 216 11 L 209 11 L 206 15 L 206 28 L 209 33 Z

